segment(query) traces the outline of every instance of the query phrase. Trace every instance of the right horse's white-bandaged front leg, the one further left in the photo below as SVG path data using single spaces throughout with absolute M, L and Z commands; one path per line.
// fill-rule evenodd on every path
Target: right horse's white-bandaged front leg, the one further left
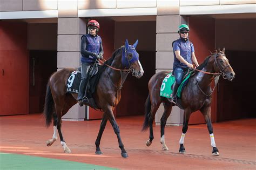
M 179 153 L 186 153 L 185 147 L 184 147 L 184 139 L 185 139 L 185 134 L 187 132 L 188 128 L 188 121 L 190 120 L 190 114 L 191 111 L 190 109 L 186 108 L 184 110 L 184 117 L 183 117 L 183 127 L 182 127 L 182 134 L 179 140 Z

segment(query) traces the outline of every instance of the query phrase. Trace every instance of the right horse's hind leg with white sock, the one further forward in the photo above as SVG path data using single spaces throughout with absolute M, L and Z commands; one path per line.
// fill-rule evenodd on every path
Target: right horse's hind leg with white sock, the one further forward
M 171 114 L 172 111 L 172 104 L 169 102 L 163 102 L 164 104 L 164 113 L 161 117 L 161 138 L 160 138 L 160 143 L 162 144 L 162 149 L 163 151 L 169 151 L 169 148 L 166 146 L 165 144 L 165 137 L 164 137 L 164 132 L 165 132 L 165 125 L 166 125 L 166 121 L 167 118 L 169 117 L 169 115 Z

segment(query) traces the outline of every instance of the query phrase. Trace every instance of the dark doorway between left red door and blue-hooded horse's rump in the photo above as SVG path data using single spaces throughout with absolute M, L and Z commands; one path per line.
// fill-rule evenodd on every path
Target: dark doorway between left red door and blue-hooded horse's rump
M 57 71 L 57 51 L 31 50 L 29 63 L 29 113 L 41 113 L 46 84 Z

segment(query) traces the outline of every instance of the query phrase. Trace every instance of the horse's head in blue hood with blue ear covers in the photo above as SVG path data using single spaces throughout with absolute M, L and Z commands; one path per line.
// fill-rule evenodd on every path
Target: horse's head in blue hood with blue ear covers
M 138 45 L 138 39 L 133 45 L 129 45 L 128 40 L 125 40 L 125 46 L 122 53 L 122 65 L 129 68 L 132 72 L 132 76 L 140 78 L 143 76 L 142 64 L 139 62 L 139 54 L 136 51 Z

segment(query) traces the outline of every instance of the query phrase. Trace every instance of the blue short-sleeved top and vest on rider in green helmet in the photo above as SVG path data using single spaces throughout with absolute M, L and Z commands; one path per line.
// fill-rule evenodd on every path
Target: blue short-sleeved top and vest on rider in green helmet
M 176 67 L 187 67 L 186 64 L 181 63 L 175 55 L 175 51 L 180 51 L 180 56 L 182 56 L 188 63 L 192 64 L 192 56 L 191 53 L 194 52 L 194 45 L 190 42 L 190 40 L 184 40 L 179 38 L 173 42 L 173 53 L 174 53 L 174 62 L 173 62 L 173 70 Z

